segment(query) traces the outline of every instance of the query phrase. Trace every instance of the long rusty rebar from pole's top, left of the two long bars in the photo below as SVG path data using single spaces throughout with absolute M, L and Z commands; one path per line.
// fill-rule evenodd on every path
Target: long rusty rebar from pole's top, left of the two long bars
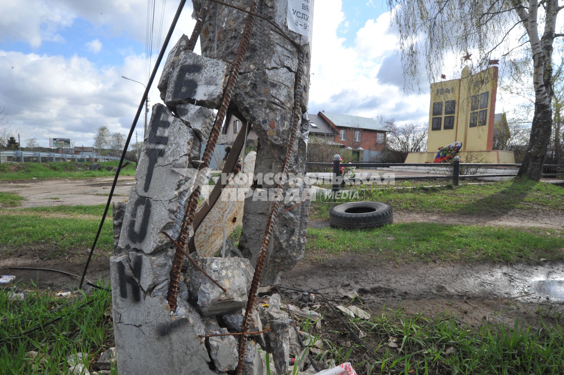
M 256 11 L 255 1 L 251 3 L 250 12 Z M 205 169 L 209 166 L 211 161 L 211 155 L 215 149 L 215 144 L 219 136 L 219 130 L 223 120 L 225 120 L 225 115 L 227 113 L 227 108 L 231 102 L 231 96 L 233 95 L 233 90 L 235 89 L 235 83 L 237 83 L 237 77 L 239 76 L 239 70 L 241 65 L 243 65 L 243 59 L 245 58 L 246 50 L 249 47 L 250 36 L 253 31 L 255 16 L 249 14 L 245 24 L 245 29 L 243 30 L 243 36 L 241 37 L 241 42 L 239 44 L 239 49 L 237 50 L 237 55 L 231 66 L 231 72 L 227 78 L 227 85 L 225 91 L 223 91 L 223 98 L 217 115 L 215 116 L 215 121 L 213 127 L 211 128 L 210 135 L 208 138 L 208 143 L 204 150 L 204 156 L 202 157 L 202 164 L 199 169 Z M 190 236 L 193 235 L 191 232 L 192 222 L 194 215 L 196 213 L 196 208 L 198 204 L 198 198 L 202 191 L 202 185 L 204 184 L 204 175 L 202 173 L 197 173 L 194 182 L 194 191 L 190 194 L 190 200 L 188 201 L 188 206 L 186 208 L 186 213 L 184 213 L 184 218 L 182 219 L 182 224 L 180 225 L 180 235 L 178 236 L 178 244 L 180 248 L 185 249 Z M 175 311 L 177 308 L 177 297 L 178 297 L 178 284 L 180 282 L 180 268 L 182 267 L 182 253 L 178 250 L 174 253 L 173 267 L 170 270 L 170 283 L 169 290 L 166 294 L 166 299 L 169 302 L 170 310 Z

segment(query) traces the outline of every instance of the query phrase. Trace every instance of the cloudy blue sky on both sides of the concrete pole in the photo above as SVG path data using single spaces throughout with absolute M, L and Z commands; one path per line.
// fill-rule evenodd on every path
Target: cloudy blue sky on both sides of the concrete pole
M 42 146 L 49 138 L 91 145 L 102 125 L 127 133 L 143 86 L 121 76 L 147 81 L 147 3 L 3 0 L 0 108 L 5 107 L 10 130 L 23 140 L 36 138 Z M 382 114 L 398 122 L 426 121 L 427 78 L 422 79 L 421 95 L 403 92 L 397 38 L 381 3 L 316 2 L 310 113 L 324 109 L 365 117 Z M 152 63 L 177 6 L 178 0 L 155 0 Z M 191 13 L 188 1 L 171 45 L 182 33 L 191 33 Z M 151 104 L 160 101 L 153 86 Z M 142 119 L 136 129 L 141 136 Z

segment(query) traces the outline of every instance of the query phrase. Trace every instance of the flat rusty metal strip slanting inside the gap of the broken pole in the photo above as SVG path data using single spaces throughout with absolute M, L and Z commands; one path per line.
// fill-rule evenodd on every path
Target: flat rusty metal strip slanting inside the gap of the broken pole
M 245 121 L 243 126 L 241 127 L 241 130 L 239 131 L 239 134 L 237 134 L 235 141 L 233 141 L 231 151 L 229 152 L 229 155 L 227 155 L 227 160 L 225 161 L 223 170 L 221 171 L 222 176 L 227 175 L 227 180 L 229 180 L 228 174 L 230 174 L 233 168 L 235 168 L 235 165 L 239 160 L 239 155 L 241 154 L 241 150 L 243 149 L 245 138 L 249 134 L 249 130 L 250 124 L 248 123 L 248 121 Z M 194 215 L 194 222 L 192 224 L 192 227 L 194 228 L 194 234 L 196 234 L 196 231 L 200 227 L 200 224 L 202 223 L 206 215 L 208 215 L 209 211 L 211 211 L 211 209 L 215 205 L 215 202 L 218 201 L 224 187 L 226 187 L 226 184 L 222 183 L 222 178 L 220 178 L 218 183 L 215 184 L 214 188 L 211 190 L 208 201 L 205 202 L 204 205 L 202 205 L 202 208 Z M 196 252 L 194 237 L 195 236 L 192 236 L 190 238 L 190 241 L 188 241 L 188 253 Z

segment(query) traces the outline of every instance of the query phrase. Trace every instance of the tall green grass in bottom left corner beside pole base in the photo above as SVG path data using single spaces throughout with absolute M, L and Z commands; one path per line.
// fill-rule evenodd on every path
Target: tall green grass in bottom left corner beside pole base
M 94 290 L 80 299 L 55 297 L 54 293 L 33 288 L 25 301 L 9 301 L 0 293 L 0 374 L 67 374 L 67 356 L 85 352 L 92 363 L 113 345 L 113 327 L 108 315 L 111 293 Z M 62 317 L 52 324 L 47 322 Z M 45 324 L 34 332 L 25 333 Z M 26 353 L 39 356 L 29 360 Z M 92 370 L 92 367 L 90 367 Z M 117 370 L 112 369 L 112 375 Z

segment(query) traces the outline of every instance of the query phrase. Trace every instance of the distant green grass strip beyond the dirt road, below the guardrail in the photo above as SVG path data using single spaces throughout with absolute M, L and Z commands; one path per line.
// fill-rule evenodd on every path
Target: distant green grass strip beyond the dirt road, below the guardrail
M 55 178 L 94 178 L 113 176 L 113 171 L 105 170 L 107 166 L 117 166 L 117 161 L 100 162 L 102 169 L 100 171 L 89 170 L 91 163 L 75 163 L 75 162 L 49 162 L 49 163 L 2 163 L 0 164 L 0 181 L 15 181 L 37 179 L 55 179 Z M 135 163 L 122 169 L 120 175 L 134 175 Z

